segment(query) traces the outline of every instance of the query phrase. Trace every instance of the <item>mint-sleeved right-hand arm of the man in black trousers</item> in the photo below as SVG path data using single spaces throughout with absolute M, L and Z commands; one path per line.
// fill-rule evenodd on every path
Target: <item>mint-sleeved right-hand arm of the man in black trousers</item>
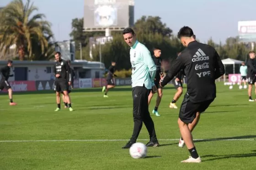
M 156 72 L 156 67 L 155 67 L 155 62 L 153 61 L 150 52 L 147 48 L 143 49 L 141 52 L 142 56 L 142 61 L 148 66 L 149 68 L 149 78 L 152 84 L 152 87 L 155 85 L 154 83 L 154 78 L 155 78 L 155 72 Z

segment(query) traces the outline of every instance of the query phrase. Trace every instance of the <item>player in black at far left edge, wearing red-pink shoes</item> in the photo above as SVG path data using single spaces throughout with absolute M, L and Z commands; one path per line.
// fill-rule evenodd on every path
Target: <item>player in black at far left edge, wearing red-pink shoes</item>
M 13 77 L 13 75 L 10 75 L 11 67 L 12 67 L 12 61 L 8 60 L 7 66 L 1 68 L 0 70 L 0 73 L 1 73 L 0 91 L 2 91 L 4 88 L 8 91 L 9 98 L 10 98 L 10 105 L 13 106 L 13 105 L 16 105 L 17 103 L 14 103 L 12 101 L 12 90 L 8 82 L 9 77 Z

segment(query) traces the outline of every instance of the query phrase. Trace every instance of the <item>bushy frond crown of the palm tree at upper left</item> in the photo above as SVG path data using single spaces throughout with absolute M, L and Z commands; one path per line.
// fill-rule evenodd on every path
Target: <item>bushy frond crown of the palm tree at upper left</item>
M 50 23 L 43 20 L 45 15 L 36 14 L 38 8 L 27 0 L 26 4 L 22 0 L 13 0 L 6 7 L 0 10 L 0 51 L 6 54 L 10 46 L 16 46 L 16 53 L 20 60 L 28 56 L 32 59 L 35 53 L 34 42 L 45 52 L 48 47 L 48 37 L 53 37 Z

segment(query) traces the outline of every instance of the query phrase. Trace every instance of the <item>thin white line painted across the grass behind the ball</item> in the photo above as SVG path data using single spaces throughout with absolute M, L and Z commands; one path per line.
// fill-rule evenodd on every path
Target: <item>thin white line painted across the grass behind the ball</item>
M 149 140 L 149 139 L 137 139 L 137 140 Z M 158 139 L 158 140 L 165 140 L 165 141 L 172 141 L 176 140 L 179 141 L 180 139 Z M 217 141 L 217 140 L 227 140 L 227 141 L 254 141 L 256 139 L 194 139 L 194 141 Z M 63 140 L 0 140 L 0 142 L 107 142 L 107 141 L 128 141 L 128 139 L 63 139 Z

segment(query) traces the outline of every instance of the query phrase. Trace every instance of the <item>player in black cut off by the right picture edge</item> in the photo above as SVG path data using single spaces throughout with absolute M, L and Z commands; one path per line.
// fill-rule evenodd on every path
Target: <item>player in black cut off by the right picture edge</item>
M 253 84 L 255 85 L 255 94 L 256 94 L 256 64 L 255 64 L 255 52 L 249 52 L 250 59 L 247 62 L 247 78 L 248 78 L 248 95 L 249 102 L 254 102 L 251 98 L 251 91 Z M 255 99 L 256 101 L 256 99 Z

